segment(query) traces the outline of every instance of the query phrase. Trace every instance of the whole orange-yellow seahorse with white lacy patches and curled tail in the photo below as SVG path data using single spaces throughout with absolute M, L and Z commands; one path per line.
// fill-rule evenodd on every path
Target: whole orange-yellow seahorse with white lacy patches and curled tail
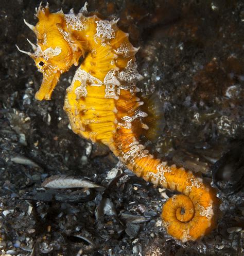
M 217 225 L 216 190 L 192 172 L 154 157 L 140 143 L 143 131 L 150 134 L 150 122 L 144 120 L 150 114 L 155 130 L 161 114 L 153 100 L 142 108 L 150 100 L 138 96 L 136 82 L 143 78 L 137 71 L 138 48 L 118 28 L 118 20 L 89 14 L 86 5 L 78 14 L 73 9 L 68 14 L 50 13 L 48 5 L 40 5 L 36 15 L 36 26 L 24 20 L 37 37 L 37 44 L 27 39 L 34 52 L 18 48 L 43 73 L 35 98 L 50 100 L 60 75 L 83 57 L 64 100 L 72 130 L 108 146 L 138 177 L 181 193 L 163 205 L 162 223 L 169 235 L 186 242 L 209 234 Z

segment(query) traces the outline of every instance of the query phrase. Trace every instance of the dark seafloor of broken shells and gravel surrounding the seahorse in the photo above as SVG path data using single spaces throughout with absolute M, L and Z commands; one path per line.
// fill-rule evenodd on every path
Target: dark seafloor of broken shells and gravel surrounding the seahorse
M 62 75 L 53 100 L 34 100 L 42 76 L 27 55 L 40 1 L 0 2 L 0 206 L 3 255 L 243 255 L 244 2 L 228 0 L 88 1 L 89 11 L 120 18 L 165 126 L 158 156 L 219 188 L 218 228 L 181 243 L 161 226 L 173 193 L 136 178 L 106 148 L 75 135 L 62 109 L 75 69 Z M 64 12 L 81 0 L 52 0 Z M 42 189 L 55 174 L 89 178 L 103 188 Z M 213 174 L 213 175 L 212 175 Z

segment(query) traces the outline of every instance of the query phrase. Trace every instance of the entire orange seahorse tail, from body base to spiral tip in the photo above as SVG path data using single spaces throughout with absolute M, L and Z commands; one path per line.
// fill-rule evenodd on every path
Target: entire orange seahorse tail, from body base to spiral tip
M 168 199 L 162 219 L 168 234 L 183 242 L 196 240 L 216 227 L 219 199 L 210 185 L 184 168 L 168 166 L 140 145 L 132 129 L 119 127 L 114 153 L 133 172 L 146 181 L 177 190 L 181 195 Z

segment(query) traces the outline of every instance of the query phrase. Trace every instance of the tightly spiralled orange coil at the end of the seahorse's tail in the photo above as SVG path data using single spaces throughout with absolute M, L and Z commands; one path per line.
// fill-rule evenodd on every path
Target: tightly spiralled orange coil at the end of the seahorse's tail
M 216 227 L 218 203 L 210 190 L 206 188 L 199 196 L 175 195 L 166 201 L 161 217 L 168 234 L 186 242 L 199 239 Z

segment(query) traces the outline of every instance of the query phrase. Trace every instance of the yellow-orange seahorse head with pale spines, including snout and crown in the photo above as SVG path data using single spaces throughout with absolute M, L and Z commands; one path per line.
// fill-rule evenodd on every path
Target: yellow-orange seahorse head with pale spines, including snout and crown
M 42 84 L 35 98 L 37 100 L 50 100 L 60 74 L 67 72 L 73 64 L 77 66 L 82 52 L 76 49 L 68 38 L 66 21 L 62 11 L 50 13 L 48 5 L 40 6 L 36 15 L 39 20 L 36 26 L 30 25 L 24 20 L 37 36 L 37 44 L 31 43 L 27 39 L 34 53 L 18 49 L 28 54 L 43 74 Z

